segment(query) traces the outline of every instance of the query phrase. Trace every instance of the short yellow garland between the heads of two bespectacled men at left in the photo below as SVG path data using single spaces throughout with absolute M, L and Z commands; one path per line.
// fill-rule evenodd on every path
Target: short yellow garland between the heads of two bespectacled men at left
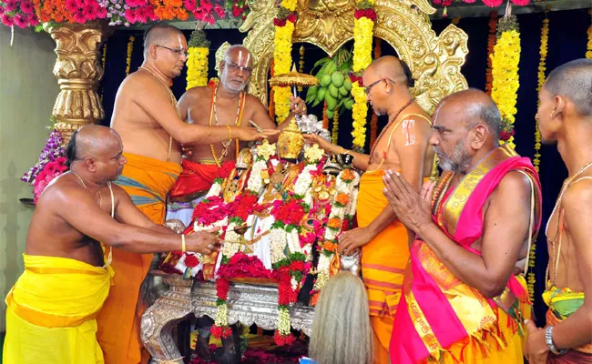
M 196 29 L 189 38 L 187 60 L 187 88 L 208 86 L 209 40 L 206 32 Z

